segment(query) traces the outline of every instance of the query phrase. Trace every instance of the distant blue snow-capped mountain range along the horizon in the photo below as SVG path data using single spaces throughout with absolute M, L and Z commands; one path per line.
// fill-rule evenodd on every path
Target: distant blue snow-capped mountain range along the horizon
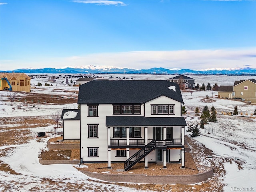
M 4 72 L 4 71 L 2 71 Z M 12 71 L 5 71 L 12 72 Z M 13 70 L 19 73 L 70 73 L 70 74 L 103 74 L 103 73 L 121 73 L 121 74 L 191 74 L 191 75 L 256 75 L 256 68 L 213 68 L 206 70 L 190 70 L 190 69 L 166 69 L 166 68 L 150 68 L 150 69 L 130 69 L 117 68 L 113 66 L 66 66 L 64 68 L 22 68 Z

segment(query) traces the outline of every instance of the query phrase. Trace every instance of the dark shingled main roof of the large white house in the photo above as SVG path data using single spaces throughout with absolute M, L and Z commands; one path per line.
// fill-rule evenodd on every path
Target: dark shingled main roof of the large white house
M 175 90 L 168 87 L 175 86 Z M 159 96 L 183 103 L 178 84 L 158 81 L 91 81 L 79 87 L 78 104 L 141 104 Z

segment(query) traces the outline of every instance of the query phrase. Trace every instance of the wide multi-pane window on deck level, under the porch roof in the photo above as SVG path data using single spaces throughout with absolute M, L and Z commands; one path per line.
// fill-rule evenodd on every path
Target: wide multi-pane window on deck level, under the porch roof
M 114 138 L 126 138 L 127 127 L 114 127 Z M 129 127 L 129 137 L 141 137 L 140 127 Z

